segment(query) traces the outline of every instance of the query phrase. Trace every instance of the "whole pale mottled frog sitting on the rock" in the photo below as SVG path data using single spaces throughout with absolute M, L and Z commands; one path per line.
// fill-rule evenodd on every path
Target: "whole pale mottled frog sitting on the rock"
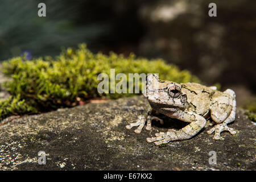
M 215 86 L 207 87 L 192 82 L 177 84 L 160 80 L 157 75 L 150 74 L 146 79 L 143 96 L 147 98 L 152 110 L 148 112 L 147 117 L 139 116 L 138 121 L 130 123 L 126 129 L 138 126 L 135 133 L 139 134 L 146 122 L 146 130 L 152 129 L 153 119 L 163 123 L 162 119 L 152 116 L 155 112 L 189 122 L 189 125 L 180 130 L 169 129 L 166 133 L 156 133 L 155 137 L 147 138 L 148 143 L 160 145 L 174 140 L 189 139 L 204 128 L 209 117 L 216 123 L 207 131 L 208 134 L 215 132 L 214 139 L 222 138 L 220 133 L 225 130 L 236 134 L 234 129 L 227 126 L 236 118 L 236 94 L 231 89 L 220 92 Z

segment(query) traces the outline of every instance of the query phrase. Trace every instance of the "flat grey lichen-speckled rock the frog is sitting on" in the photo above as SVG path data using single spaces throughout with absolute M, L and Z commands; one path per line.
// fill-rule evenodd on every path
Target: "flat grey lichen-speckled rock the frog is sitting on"
M 255 170 L 255 123 L 237 111 L 230 124 L 236 135 L 223 132 L 224 140 L 201 131 L 189 140 L 154 146 L 146 138 L 184 122 L 162 116 L 164 125 L 154 130 L 125 126 L 135 122 L 148 105 L 143 97 L 29 115 L 0 126 L 0 170 Z M 160 116 L 161 117 L 161 116 Z M 38 164 L 38 152 L 46 152 L 46 165 Z M 209 152 L 217 164 L 209 164 Z

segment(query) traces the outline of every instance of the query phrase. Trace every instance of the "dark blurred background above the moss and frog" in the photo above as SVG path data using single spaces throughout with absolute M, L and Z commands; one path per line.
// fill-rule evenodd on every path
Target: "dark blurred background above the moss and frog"
M 46 17 L 38 17 L 38 3 Z M 208 5 L 217 5 L 217 17 Z M 0 60 L 58 55 L 86 43 L 94 53 L 163 58 L 205 84 L 255 98 L 256 1 L 1 0 Z

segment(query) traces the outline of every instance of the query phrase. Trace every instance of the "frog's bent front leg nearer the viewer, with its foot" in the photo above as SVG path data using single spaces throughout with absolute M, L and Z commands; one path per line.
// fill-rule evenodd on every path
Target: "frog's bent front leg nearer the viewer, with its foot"
M 147 138 L 147 142 L 154 142 L 156 146 L 174 140 L 184 140 L 195 136 L 207 123 L 206 119 L 195 113 L 175 113 L 173 117 L 185 122 L 191 122 L 180 130 L 168 130 L 167 133 L 156 133 L 156 137 Z

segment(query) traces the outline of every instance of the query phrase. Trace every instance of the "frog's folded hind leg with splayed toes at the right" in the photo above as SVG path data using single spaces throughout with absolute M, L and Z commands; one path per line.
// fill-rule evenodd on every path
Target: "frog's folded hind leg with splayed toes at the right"
M 207 131 L 208 134 L 212 134 L 213 131 L 215 131 L 214 139 L 218 140 L 221 138 L 220 133 L 222 131 L 229 131 L 230 134 L 234 135 L 236 134 L 236 131 L 230 127 L 228 127 L 228 123 L 233 122 L 236 119 L 236 94 L 233 90 L 227 89 L 224 93 L 228 93 L 230 96 L 232 96 L 231 99 L 231 105 L 232 110 L 230 111 L 230 114 L 227 117 L 227 114 L 225 110 L 223 110 L 218 104 L 226 104 L 225 100 L 224 102 L 219 102 L 218 104 L 213 104 L 213 107 L 211 109 L 211 117 L 213 121 L 217 122 L 217 124 L 210 130 Z M 223 110 L 220 112 L 220 110 Z M 220 114 L 221 113 L 221 114 Z M 226 119 L 223 119 L 226 118 Z

